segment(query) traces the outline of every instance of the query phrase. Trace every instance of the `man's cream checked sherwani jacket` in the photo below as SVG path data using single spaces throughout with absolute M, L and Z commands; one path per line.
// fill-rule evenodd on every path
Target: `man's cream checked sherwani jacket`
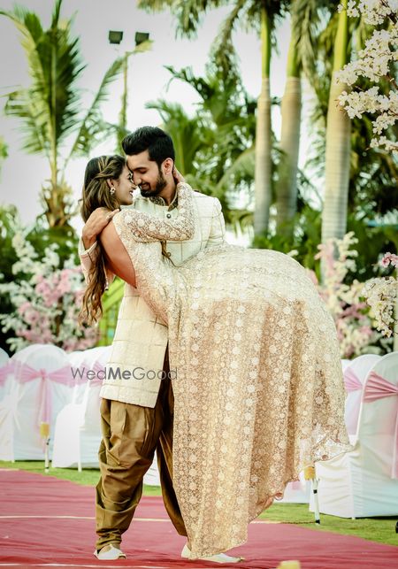
M 162 203 L 162 198 L 156 198 L 155 203 L 140 196 L 131 207 L 159 218 L 174 218 L 178 215 L 177 208 L 173 207 L 175 204 L 167 206 L 158 202 Z M 194 216 L 195 234 L 192 239 L 167 242 L 167 250 L 171 253 L 174 265 L 180 265 L 200 250 L 224 241 L 225 221 L 217 198 L 195 192 Z M 96 243 L 89 250 L 84 250 L 80 242 L 80 260 L 85 275 L 95 255 Z M 113 275 L 108 273 L 108 279 L 111 281 L 112 278 Z M 107 365 L 107 377 L 103 381 L 100 395 L 105 399 L 154 407 L 167 341 L 168 331 L 165 324 L 144 302 L 136 288 L 126 284 L 112 342 L 111 358 Z M 123 379 L 123 373 L 126 379 Z

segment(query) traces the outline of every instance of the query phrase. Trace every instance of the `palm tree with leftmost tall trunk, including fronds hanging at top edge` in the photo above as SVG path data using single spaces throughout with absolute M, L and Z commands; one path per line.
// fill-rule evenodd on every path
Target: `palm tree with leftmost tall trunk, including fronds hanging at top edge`
M 200 19 L 212 8 L 231 4 L 228 0 L 139 0 L 138 6 L 159 11 L 169 8 L 177 18 L 178 31 L 192 36 L 200 25 Z M 284 13 L 287 0 L 235 0 L 215 42 L 215 57 L 228 73 L 233 57 L 233 28 L 239 21 L 245 28 L 260 33 L 262 44 L 262 87 L 256 112 L 256 175 L 255 216 L 257 234 L 268 229 L 269 209 L 272 202 L 272 129 L 270 96 L 270 62 L 272 55 L 272 30 L 278 17 Z

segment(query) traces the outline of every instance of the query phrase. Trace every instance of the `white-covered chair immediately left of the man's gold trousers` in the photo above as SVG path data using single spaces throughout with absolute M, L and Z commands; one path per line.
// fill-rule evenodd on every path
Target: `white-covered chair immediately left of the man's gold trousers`
M 83 466 L 98 466 L 98 449 L 102 436 L 99 392 L 110 353 L 111 346 L 104 346 L 86 350 L 84 360 L 83 354 L 80 354 L 80 375 L 85 378 L 84 390 L 81 393 L 78 391 L 78 397 L 73 403 L 65 406 L 57 416 L 51 463 L 53 467 L 77 466 L 80 471 Z M 76 365 L 76 352 L 71 356 Z M 88 379 L 93 373 L 95 377 Z M 81 381 L 82 379 L 79 383 Z

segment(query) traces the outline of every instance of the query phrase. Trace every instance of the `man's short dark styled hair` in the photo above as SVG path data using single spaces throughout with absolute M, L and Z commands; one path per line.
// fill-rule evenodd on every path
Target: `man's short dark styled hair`
M 149 160 L 156 162 L 159 168 L 166 158 L 175 160 L 172 137 L 158 127 L 137 128 L 134 133 L 125 136 L 122 147 L 127 156 L 148 150 Z

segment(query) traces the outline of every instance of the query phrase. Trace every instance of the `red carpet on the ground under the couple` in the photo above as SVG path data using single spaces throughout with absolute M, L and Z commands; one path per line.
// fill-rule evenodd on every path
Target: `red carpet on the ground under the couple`
M 226 567 L 180 558 L 184 538 L 168 521 L 160 497 L 144 497 L 125 534 L 123 561 L 98 561 L 94 489 L 50 476 L 0 469 L 2 567 Z M 357 537 L 285 524 L 252 523 L 249 542 L 234 550 L 239 569 L 269 569 L 299 559 L 302 569 L 396 569 L 398 549 Z

